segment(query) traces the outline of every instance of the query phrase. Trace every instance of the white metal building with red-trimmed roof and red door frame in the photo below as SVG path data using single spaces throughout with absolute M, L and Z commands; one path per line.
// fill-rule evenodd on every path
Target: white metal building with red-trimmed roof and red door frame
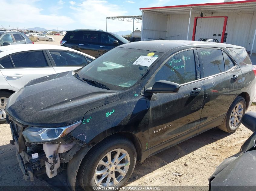
M 198 40 L 245 47 L 256 53 L 256 0 L 140 8 L 141 40 Z

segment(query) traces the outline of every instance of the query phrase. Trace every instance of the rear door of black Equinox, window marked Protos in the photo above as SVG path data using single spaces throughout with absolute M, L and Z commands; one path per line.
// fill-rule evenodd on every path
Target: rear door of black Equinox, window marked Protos
M 242 73 L 234 60 L 221 49 L 200 48 L 198 55 L 204 85 L 199 131 L 204 131 L 221 125 L 229 106 L 240 94 Z

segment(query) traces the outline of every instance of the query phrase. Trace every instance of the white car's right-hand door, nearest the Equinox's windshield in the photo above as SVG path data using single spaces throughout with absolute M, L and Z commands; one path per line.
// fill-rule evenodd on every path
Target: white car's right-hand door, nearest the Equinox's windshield
M 49 50 L 48 56 L 56 73 L 79 69 L 88 64 L 86 56 L 71 51 Z

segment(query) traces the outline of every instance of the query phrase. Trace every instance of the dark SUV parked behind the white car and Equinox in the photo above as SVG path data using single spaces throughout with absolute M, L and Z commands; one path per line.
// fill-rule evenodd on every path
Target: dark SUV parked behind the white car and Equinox
M 129 41 L 118 34 L 103 30 L 79 29 L 67 31 L 61 41 L 61 46 L 66 46 L 97 58 L 124 43 L 129 43 Z

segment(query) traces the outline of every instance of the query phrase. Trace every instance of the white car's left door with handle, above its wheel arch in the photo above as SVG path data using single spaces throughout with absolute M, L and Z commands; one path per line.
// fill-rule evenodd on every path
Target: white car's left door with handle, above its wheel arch
M 10 68 L 1 69 L 1 72 L 8 84 L 20 89 L 33 79 L 56 73 L 53 67 L 49 67 L 50 61 L 45 55 L 42 50 L 12 54 L 12 67 L 8 64 Z

